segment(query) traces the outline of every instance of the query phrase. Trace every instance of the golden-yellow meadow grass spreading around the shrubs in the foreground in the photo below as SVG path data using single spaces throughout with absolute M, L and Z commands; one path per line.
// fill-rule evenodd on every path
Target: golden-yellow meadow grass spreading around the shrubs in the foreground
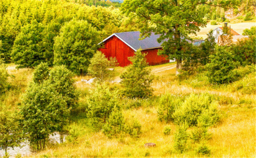
M 160 122 L 157 117 L 159 108 L 158 99 L 162 94 L 170 93 L 176 96 L 187 96 L 191 93 L 207 93 L 218 102 L 221 121 L 216 126 L 210 127 L 212 134 L 207 145 L 211 150 L 209 157 L 255 157 L 256 151 L 256 94 L 246 94 L 232 89 L 234 83 L 223 86 L 214 86 L 202 79 L 200 75 L 190 76 L 180 80 L 176 75 L 176 63 L 167 63 L 150 66 L 151 73 L 155 76 L 152 83 L 154 96 L 148 99 L 123 100 L 124 106 L 137 104 L 133 108 L 124 108 L 125 119 L 137 119 L 141 124 L 140 137 L 133 138 L 127 134 L 121 137 L 108 138 L 102 131 L 92 130 L 86 117 L 85 97 L 95 85 L 81 82 L 90 76 L 75 76 L 76 86 L 80 92 L 79 106 L 72 111 L 72 118 L 67 129 L 76 129 L 79 136 L 75 143 L 62 144 L 48 143 L 45 150 L 27 155 L 28 157 L 207 157 L 195 152 L 198 144 L 188 142 L 188 150 L 178 153 L 173 148 L 174 134 L 177 125 L 174 123 Z M 28 83 L 32 80 L 32 69 L 15 69 L 14 64 L 8 64 L 9 83 L 11 89 L 5 94 L 3 102 L 10 106 L 10 110 L 17 110 L 20 97 L 25 93 Z M 115 68 L 115 80 L 120 80 L 119 75 L 126 68 Z M 255 75 L 251 80 L 255 82 Z M 119 89 L 120 83 L 109 83 L 114 89 Z M 255 86 L 255 85 L 254 85 Z M 233 88 L 234 89 L 234 88 Z M 170 134 L 163 133 L 165 127 L 171 128 Z M 191 134 L 192 128 L 188 129 Z M 156 147 L 147 148 L 147 142 L 156 143 Z

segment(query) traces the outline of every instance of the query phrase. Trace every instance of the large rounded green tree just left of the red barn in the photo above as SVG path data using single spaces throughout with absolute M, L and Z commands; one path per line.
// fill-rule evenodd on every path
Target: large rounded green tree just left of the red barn
M 69 70 L 82 75 L 98 43 L 99 33 L 91 24 L 73 19 L 61 27 L 60 35 L 55 38 L 54 64 L 64 64 Z

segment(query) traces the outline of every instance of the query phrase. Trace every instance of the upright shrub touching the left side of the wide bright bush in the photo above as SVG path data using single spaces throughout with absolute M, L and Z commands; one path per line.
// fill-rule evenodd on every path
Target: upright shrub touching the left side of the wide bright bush
M 166 93 L 159 99 L 159 108 L 157 116 L 159 121 L 165 121 L 166 123 L 173 121 L 173 113 L 182 104 L 182 99 L 179 96 Z

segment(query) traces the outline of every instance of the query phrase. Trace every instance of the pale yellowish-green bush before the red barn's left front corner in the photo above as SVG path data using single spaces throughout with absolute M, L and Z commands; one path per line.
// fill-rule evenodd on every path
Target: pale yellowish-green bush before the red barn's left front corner
M 97 80 L 105 81 L 113 77 L 113 71 L 109 70 L 109 68 L 115 65 L 116 61 L 114 58 L 109 61 L 104 54 L 97 51 L 96 54 L 94 54 L 94 57 L 91 58 L 90 62 L 91 64 L 88 67 L 88 72 Z

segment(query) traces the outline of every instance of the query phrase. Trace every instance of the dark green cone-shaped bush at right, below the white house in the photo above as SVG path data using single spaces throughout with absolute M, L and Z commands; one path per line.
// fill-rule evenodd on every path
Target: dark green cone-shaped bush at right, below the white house
M 215 55 L 210 56 L 211 63 L 206 64 L 206 75 L 211 83 L 230 83 L 236 80 L 233 71 L 238 62 L 234 62 L 234 56 L 226 46 L 217 46 Z

